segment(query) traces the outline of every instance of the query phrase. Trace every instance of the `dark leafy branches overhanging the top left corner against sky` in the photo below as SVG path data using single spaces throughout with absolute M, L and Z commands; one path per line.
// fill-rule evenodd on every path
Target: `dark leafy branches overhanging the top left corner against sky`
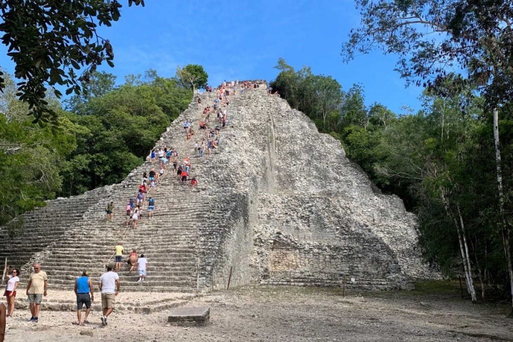
M 132 4 L 144 6 L 144 0 L 128 0 Z M 98 65 L 106 61 L 113 66 L 112 46 L 96 29 L 117 21 L 121 7 L 117 0 L 0 2 L 2 43 L 16 65 L 15 77 L 21 79 L 16 95 L 29 105 L 34 122 L 57 122 L 56 112 L 47 106 L 46 84 L 80 94 L 80 82 L 87 84 Z M 4 88 L 0 74 L 0 91 Z M 62 96 L 57 89 L 53 92 Z

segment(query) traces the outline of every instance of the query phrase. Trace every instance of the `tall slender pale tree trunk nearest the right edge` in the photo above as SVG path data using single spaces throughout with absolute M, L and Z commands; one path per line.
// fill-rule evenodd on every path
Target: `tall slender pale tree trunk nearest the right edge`
M 511 293 L 511 313 L 513 315 L 513 267 L 511 265 L 511 249 L 509 248 L 510 227 L 504 213 L 504 192 L 502 190 L 502 169 L 501 169 L 501 148 L 499 142 L 499 109 L 494 108 L 494 139 L 495 139 L 495 160 L 497 163 L 497 190 L 499 192 L 499 213 L 501 216 L 501 233 L 506 266 L 509 276 L 509 288 Z

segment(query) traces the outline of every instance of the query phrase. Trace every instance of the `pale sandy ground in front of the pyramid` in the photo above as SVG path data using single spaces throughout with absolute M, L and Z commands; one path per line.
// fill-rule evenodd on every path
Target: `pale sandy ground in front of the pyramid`
M 122 298 L 120 298 L 122 299 Z M 204 327 L 167 323 L 172 310 L 114 312 L 102 327 L 73 325 L 74 312 L 28 310 L 8 318 L 6 341 L 513 341 L 508 306 L 472 305 L 457 296 L 412 292 L 347 293 L 340 289 L 245 287 L 190 300 L 209 307 Z M 84 334 L 84 335 L 81 335 Z

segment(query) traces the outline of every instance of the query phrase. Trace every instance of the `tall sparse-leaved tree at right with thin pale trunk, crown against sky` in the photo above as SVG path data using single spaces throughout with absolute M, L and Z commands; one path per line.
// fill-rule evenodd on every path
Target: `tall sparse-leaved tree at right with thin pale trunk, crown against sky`
M 400 56 L 398 70 L 408 83 L 446 89 L 449 67 L 470 69 L 462 79 L 477 87 L 492 109 L 496 147 L 499 229 L 503 236 L 506 270 L 513 314 L 511 225 L 506 217 L 499 137 L 499 106 L 513 93 L 511 2 L 357 0 L 361 26 L 352 30 L 342 54 L 346 61 L 355 51 L 381 48 Z M 453 69 L 453 68 L 451 68 Z M 478 80 L 478 82 L 476 82 Z M 508 190 L 506 189 L 506 192 Z

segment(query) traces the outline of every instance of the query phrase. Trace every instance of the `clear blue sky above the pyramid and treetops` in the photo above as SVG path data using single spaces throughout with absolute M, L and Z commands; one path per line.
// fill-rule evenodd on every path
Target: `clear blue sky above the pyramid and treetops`
M 310 66 L 315 74 L 331 75 L 344 90 L 360 83 L 366 104 L 379 102 L 396 113 L 402 106 L 420 109 L 421 89 L 405 88 L 393 71 L 396 58 L 376 51 L 344 64 L 340 56 L 351 27 L 360 22 L 350 0 L 168 1 L 146 0 L 145 7 L 128 7 L 99 32 L 114 48 L 114 68 L 102 66 L 124 81 L 126 74 L 155 69 L 173 76 L 176 66 L 200 64 L 209 83 L 224 79 L 263 78 L 278 74 L 273 67 L 283 57 L 295 69 Z M 12 62 L 0 47 L 0 65 L 12 72 Z

